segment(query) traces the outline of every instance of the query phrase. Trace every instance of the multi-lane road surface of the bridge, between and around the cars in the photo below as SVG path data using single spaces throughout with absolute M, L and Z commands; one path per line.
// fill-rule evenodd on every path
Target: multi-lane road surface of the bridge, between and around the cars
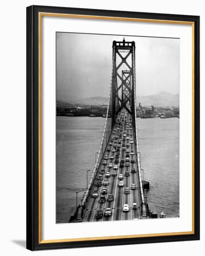
M 126 116 L 127 115 L 127 118 Z M 121 124 L 116 123 L 115 127 L 113 128 L 113 133 L 110 136 L 109 139 L 109 143 L 107 148 L 105 149 L 103 158 L 105 155 L 108 155 L 108 165 L 102 165 L 103 163 L 103 158 L 102 158 L 102 162 L 101 165 L 99 167 L 99 171 L 96 175 L 96 180 L 94 183 L 94 188 L 90 193 L 90 198 L 88 199 L 88 203 L 86 205 L 86 210 L 85 210 L 85 214 L 83 217 L 83 222 L 93 222 L 93 221 L 116 221 L 116 220 L 131 220 L 131 219 L 140 219 L 141 218 L 141 195 L 140 195 L 140 189 L 139 189 L 139 176 L 138 176 L 138 171 L 137 171 L 137 164 L 136 164 L 136 151 L 135 151 L 135 140 L 134 140 L 134 128 L 133 126 L 127 126 L 127 121 L 128 123 L 132 123 L 132 117 L 127 113 L 127 111 L 125 109 L 123 109 L 121 111 L 121 113 L 118 115 L 118 119 L 120 119 Z M 117 129 L 119 128 L 119 131 L 122 130 L 122 139 L 126 138 L 125 141 L 122 140 L 121 143 L 118 143 L 120 140 L 120 137 L 118 139 L 114 139 L 113 142 L 111 142 L 112 140 L 112 136 L 115 136 L 117 133 Z M 130 129 L 131 128 L 131 129 Z M 115 132 L 116 129 L 116 132 Z M 123 137 L 124 132 L 126 132 L 126 137 Z M 127 137 L 129 137 L 129 139 L 127 139 Z M 132 141 L 133 139 L 133 144 L 130 143 L 130 141 Z M 112 143 L 112 145 L 111 145 Z M 117 175 L 116 176 L 112 176 L 112 172 L 113 172 L 113 167 L 114 167 L 114 162 L 116 159 L 116 152 L 112 152 L 113 146 L 114 144 L 117 144 L 120 146 L 120 155 L 119 155 L 119 163 L 118 165 L 118 169 L 116 170 Z M 126 160 L 126 150 L 122 150 L 123 146 L 122 144 L 125 144 L 125 148 L 126 150 L 129 150 L 129 157 L 130 157 L 130 161 L 129 167 L 125 167 L 126 162 L 124 162 L 124 167 L 120 168 L 120 161 L 121 159 Z M 127 147 L 127 145 L 129 145 Z M 110 151 L 108 152 L 107 149 L 110 147 Z M 131 150 L 133 150 L 134 155 L 130 155 Z M 114 159 L 110 159 L 110 156 L 113 156 Z M 135 160 L 135 163 L 131 163 L 131 159 Z M 112 168 L 109 168 L 109 163 L 113 164 Z M 135 168 L 136 173 L 131 173 L 131 169 Z M 103 180 L 102 180 L 102 186 L 101 187 L 96 187 L 96 182 L 97 182 L 97 178 L 98 175 L 100 175 L 100 170 L 101 169 L 105 169 L 105 174 L 107 172 L 110 172 L 110 177 L 107 178 L 105 177 L 105 174 L 103 174 Z M 129 171 L 129 176 L 125 176 L 125 171 Z M 123 175 L 123 179 L 118 179 L 118 175 L 122 174 Z M 104 186 L 103 182 L 104 180 L 108 180 L 109 181 L 109 185 L 108 186 Z M 119 187 L 118 184 L 120 181 L 124 182 L 124 187 Z M 131 184 L 135 183 L 136 185 L 136 189 L 131 189 Z M 107 188 L 108 193 L 105 195 L 106 201 L 104 203 L 100 203 L 100 195 L 102 193 L 102 188 Z M 130 189 L 130 193 L 129 194 L 124 194 L 124 188 L 128 187 Z M 97 198 L 93 198 L 92 194 L 93 191 L 97 190 L 99 196 Z M 108 195 L 109 194 L 113 194 L 114 195 L 114 201 L 108 201 Z M 137 209 L 133 209 L 133 203 L 136 202 L 137 203 Z M 123 205 L 124 204 L 128 204 L 129 206 L 129 211 L 128 212 L 123 212 Z M 104 212 L 106 208 L 111 208 L 112 209 L 112 215 L 111 216 L 105 216 Z M 103 217 L 100 219 L 96 219 L 96 211 L 101 209 L 103 211 Z

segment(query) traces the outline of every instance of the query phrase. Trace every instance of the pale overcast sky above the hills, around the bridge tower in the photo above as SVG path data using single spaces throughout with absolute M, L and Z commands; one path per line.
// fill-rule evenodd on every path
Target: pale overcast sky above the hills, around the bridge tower
M 108 97 L 112 42 L 122 36 L 57 33 L 57 100 Z M 125 36 L 135 41 L 136 92 L 179 93 L 179 39 Z

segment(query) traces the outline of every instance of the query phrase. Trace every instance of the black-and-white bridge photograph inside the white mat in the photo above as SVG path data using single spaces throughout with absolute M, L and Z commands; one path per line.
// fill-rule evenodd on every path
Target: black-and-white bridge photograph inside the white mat
M 56 223 L 179 217 L 179 47 L 56 32 Z

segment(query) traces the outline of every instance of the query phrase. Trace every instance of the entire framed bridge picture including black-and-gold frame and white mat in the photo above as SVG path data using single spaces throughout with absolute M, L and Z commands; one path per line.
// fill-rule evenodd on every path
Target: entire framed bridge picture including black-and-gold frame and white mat
M 199 16 L 27 7 L 27 249 L 199 240 Z

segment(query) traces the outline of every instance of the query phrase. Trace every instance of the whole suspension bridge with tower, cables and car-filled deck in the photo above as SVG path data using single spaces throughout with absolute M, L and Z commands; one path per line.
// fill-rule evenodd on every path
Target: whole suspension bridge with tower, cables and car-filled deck
M 142 180 L 136 119 L 135 42 L 113 41 L 109 101 L 87 191 L 69 222 L 157 217 Z

